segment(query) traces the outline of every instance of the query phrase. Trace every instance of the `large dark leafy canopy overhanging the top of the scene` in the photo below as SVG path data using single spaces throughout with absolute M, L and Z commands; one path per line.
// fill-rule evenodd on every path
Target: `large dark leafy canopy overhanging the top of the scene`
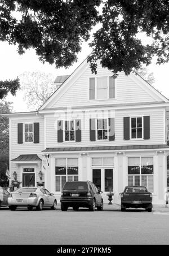
M 20 14 L 20 18 L 16 18 Z M 17 15 L 19 16 L 19 15 Z M 90 44 L 92 72 L 97 60 L 114 74 L 128 75 L 148 65 L 169 60 L 168 0 L 1 0 L 0 40 L 17 44 L 19 54 L 33 47 L 42 62 L 56 68 L 77 61 L 82 40 L 100 23 Z M 152 42 L 145 45 L 138 34 Z

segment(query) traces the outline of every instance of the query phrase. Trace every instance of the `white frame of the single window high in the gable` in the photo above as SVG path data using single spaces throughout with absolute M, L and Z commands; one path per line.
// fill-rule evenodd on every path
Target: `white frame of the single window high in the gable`
M 106 79 L 108 80 L 108 92 L 107 92 L 107 98 L 106 99 L 97 99 L 97 79 L 99 77 L 106 77 Z M 89 101 L 106 101 L 106 100 L 114 100 L 114 99 L 117 99 L 117 92 L 116 92 L 116 80 L 117 79 L 114 79 L 114 98 L 110 98 L 110 95 L 109 95 L 109 90 L 110 90 L 110 80 L 109 80 L 109 77 L 110 76 L 91 76 L 91 77 L 88 77 L 88 100 Z M 95 79 L 95 99 L 90 99 L 90 78 L 94 78 Z

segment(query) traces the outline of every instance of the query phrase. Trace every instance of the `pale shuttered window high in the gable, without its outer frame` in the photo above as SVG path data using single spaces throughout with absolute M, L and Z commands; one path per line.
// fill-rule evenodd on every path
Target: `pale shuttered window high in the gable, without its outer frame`
M 115 80 L 113 76 L 91 77 L 89 99 L 115 98 Z

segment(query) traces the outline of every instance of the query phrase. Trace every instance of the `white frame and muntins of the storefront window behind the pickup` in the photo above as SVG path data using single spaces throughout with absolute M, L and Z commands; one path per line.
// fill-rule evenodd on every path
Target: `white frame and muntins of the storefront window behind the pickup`
M 141 174 L 141 158 L 149 158 L 149 157 L 152 157 L 153 158 L 153 174 Z M 140 167 L 140 174 L 128 174 L 128 158 L 139 158 L 139 167 Z M 142 176 L 153 176 L 153 192 L 154 193 L 154 156 L 153 155 L 141 155 L 141 157 L 135 155 L 135 156 L 128 156 L 127 157 L 127 186 L 128 186 L 128 176 L 139 176 L 140 177 L 140 186 L 144 186 L 142 185 L 142 180 L 141 180 L 141 177 Z M 147 189 L 149 190 L 149 188 L 147 187 Z

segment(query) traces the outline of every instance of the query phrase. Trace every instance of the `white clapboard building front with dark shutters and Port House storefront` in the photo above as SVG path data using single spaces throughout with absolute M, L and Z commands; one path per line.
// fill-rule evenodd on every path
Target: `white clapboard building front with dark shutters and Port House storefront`
M 61 78 L 59 78 L 61 81 Z M 65 181 L 91 180 L 106 194 L 145 185 L 153 203 L 167 202 L 169 101 L 139 75 L 114 79 L 87 60 L 35 112 L 10 119 L 10 176 L 21 186 L 39 181 L 60 198 Z M 168 171 L 167 171 L 168 170 Z

